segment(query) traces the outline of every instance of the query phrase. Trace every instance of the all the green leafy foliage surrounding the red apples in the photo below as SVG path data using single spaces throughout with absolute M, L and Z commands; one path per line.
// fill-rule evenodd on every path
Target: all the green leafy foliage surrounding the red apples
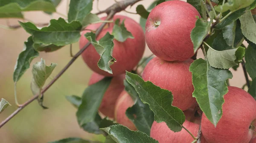
M 127 1 L 130 2 L 131 0 Z M 135 3 L 139 0 L 133 1 Z M 145 22 L 150 11 L 165 1 L 168 0 L 154 0 L 148 8 L 143 5 L 137 6 L 136 12 L 140 15 L 140 25 L 143 29 L 145 29 Z M 256 1 L 227 0 L 224 1 L 225 3 L 222 0 L 212 1 L 218 3 L 218 6 L 213 7 L 211 3 L 206 4 L 210 0 L 187 0 L 187 3 L 194 6 L 201 15 L 201 18 L 197 17 L 195 27 L 190 35 L 193 50 L 196 53 L 201 48 L 204 53 L 204 59 L 194 60 L 189 71 L 192 73 L 192 83 L 195 88 L 192 96 L 196 98 L 200 109 L 209 121 L 217 126 L 223 114 L 224 95 L 228 92 L 227 81 L 233 77 L 230 68 L 236 69 L 241 62 L 242 65 L 245 65 L 245 72 L 247 71 L 253 79 L 248 93 L 256 99 L 256 21 L 255 15 L 250 11 L 255 8 Z M 0 0 L 0 18 L 26 20 L 24 17 L 26 11 L 44 11 L 47 14 L 53 14 L 60 2 L 61 0 Z M 127 6 L 132 6 L 134 3 Z M 116 4 L 107 8 L 105 12 L 109 16 L 112 13 L 116 14 L 116 12 L 125 10 L 126 7 Z M 111 19 L 107 19 L 108 21 L 103 21 L 92 10 L 93 0 L 70 0 L 67 18 L 52 19 L 49 21 L 49 25 L 43 27 L 38 27 L 34 22 L 19 22 L 20 27 L 30 36 L 24 42 L 24 48 L 17 58 L 13 73 L 15 88 L 17 81 L 31 66 L 32 60 L 40 56 L 39 53 L 45 51 L 54 54 L 56 50 L 78 42 L 81 36 L 85 36 L 99 54 L 100 59 L 97 61 L 99 69 L 113 74 L 111 65 L 115 64 L 117 60 L 113 57 L 114 44 L 125 42 L 128 38 L 134 39 L 134 36 L 125 28 L 124 20 L 111 21 Z M 97 38 L 102 30 L 100 28 L 84 35 L 80 34 L 88 25 L 104 22 L 112 22 L 111 25 L 113 25 L 113 31 L 108 31 L 105 36 Z M 104 29 L 104 25 L 101 28 Z M 242 45 L 244 39 L 249 44 L 247 48 Z M 85 46 L 83 50 L 86 48 Z M 60 75 L 82 52 L 80 50 L 73 57 Z M 150 57 L 143 58 L 138 63 L 138 67 L 145 68 L 149 60 Z M 32 65 L 31 90 L 32 94 L 35 95 L 34 100 L 38 99 L 42 107 L 44 107 L 42 105 L 44 96 L 41 93 L 56 65 L 52 63 L 47 66 L 44 59 Z M 105 77 L 88 86 L 81 97 L 77 95 L 66 96 L 67 100 L 77 108 L 76 118 L 79 126 L 86 132 L 104 135 L 106 137 L 105 143 L 158 143 L 149 137 L 153 121 L 165 122 L 173 132 L 186 129 L 183 126 L 185 121 L 183 111 L 172 106 L 174 100 L 172 92 L 161 89 L 150 81 L 144 81 L 140 76 L 137 71 L 132 71 L 132 73 L 127 71 L 124 81 L 125 90 L 134 99 L 134 105 L 129 107 L 125 114 L 138 131 L 131 131 L 108 117 L 103 118 L 98 111 L 102 98 L 111 84 L 112 77 Z M 53 82 L 58 78 L 59 76 L 53 79 Z M 49 86 L 53 82 L 50 82 Z M 17 100 L 16 90 L 15 100 Z M 9 105 L 9 102 L 2 98 L 0 112 Z M 19 107 L 19 109 L 24 107 Z M 197 138 L 194 137 L 194 139 Z M 90 140 L 71 137 L 51 143 L 91 142 Z

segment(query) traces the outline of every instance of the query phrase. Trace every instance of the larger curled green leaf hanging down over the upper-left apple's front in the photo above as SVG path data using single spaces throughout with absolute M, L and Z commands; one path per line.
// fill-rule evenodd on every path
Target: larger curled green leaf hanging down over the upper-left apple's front
M 112 70 L 110 66 L 116 62 L 116 59 L 112 57 L 113 47 L 114 47 L 114 36 L 107 33 L 104 37 L 96 41 L 96 35 L 93 32 L 86 33 L 84 36 L 92 43 L 96 51 L 100 55 L 98 66 L 100 69 L 111 73 Z

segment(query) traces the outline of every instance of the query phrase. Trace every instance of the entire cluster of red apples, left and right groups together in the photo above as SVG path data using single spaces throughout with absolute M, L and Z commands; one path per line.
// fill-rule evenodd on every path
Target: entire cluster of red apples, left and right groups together
M 204 113 L 200 115 L 196 112 L 198 106 L 192 96 L 194 86 L 189 66 L 193 62 L 190 58 L 194 56 L 190 33 L 198 17 L 201 17 L 200 14 L 189 3 L 180 0 L 166 1 L 152 9 L 146 21 L 144 34 L 140 25 L 131 18 L 114 16 L 113 20 L 125 19 L 125 27 L 134 39 L 128 38 L 125 42 L 113 40 L 113 57 L 117 61 L 111 65 L 113 75 L 99 69 L 97 62 L 100 56 L 92 45 L 82 53 L 85 63 L 94 71 L 89 85 L 105 76 L 113 76 L 99 111 L 115 119 L 117 123 L 136 130 L 134 123 L 125 115 L 128 107 L 134 105 L 134 101 L 124 90 L 123 81 L 125 70 L 133 70 L 142 58 L 146 41 L 155 57 L 146 65 L 142 78 L 172 92 L 172 105 L 184 112 L 186 120 L 183 126 L 192 135 L 197 136 L 201 123 L 201 143 L 256 143 L 256 101 L 244 90 L 228 87 L 228 93 L 224 95 L 223 115 L 217 126 L 214 126 Z M 82 35 L 90 30 L 96 30 L 99 26 L 100 24 L 88 26 L 88 30 L 83 31 Z M 112 30 L 113 23 L 110 23 L 99 34 L 97 40 Z M 81 36 L 80 48 L 87 42 L 88 40 Z M 151 126 L 150 136 L 159 143 L 191 143 L 194 140 L 185 129 L 173 132 L 165 122 L 156 121 Z

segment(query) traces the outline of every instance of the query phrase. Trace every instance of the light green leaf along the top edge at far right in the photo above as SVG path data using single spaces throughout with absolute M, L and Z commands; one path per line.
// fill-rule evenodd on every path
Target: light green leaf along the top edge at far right
M 218 12 L 225 12 L 225 11 L 237 11 L 241 8 L 246 8 L 250 6 L 254 0 L 228 0 L 227 3 L 224 5 L 219 5 L 215 7 L 215 10 Z

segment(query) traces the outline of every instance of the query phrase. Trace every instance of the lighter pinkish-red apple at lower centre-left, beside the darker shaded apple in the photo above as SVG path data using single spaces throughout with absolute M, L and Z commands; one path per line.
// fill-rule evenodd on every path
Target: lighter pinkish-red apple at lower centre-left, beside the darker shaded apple
M 116 101 L 115 119 L 117 123 L 127 126 L 131 130 L 137 130 L 134 123 L 125 114 L 126 110 L 133 105 L 134 101 L 131 96 L 123 90 Z

